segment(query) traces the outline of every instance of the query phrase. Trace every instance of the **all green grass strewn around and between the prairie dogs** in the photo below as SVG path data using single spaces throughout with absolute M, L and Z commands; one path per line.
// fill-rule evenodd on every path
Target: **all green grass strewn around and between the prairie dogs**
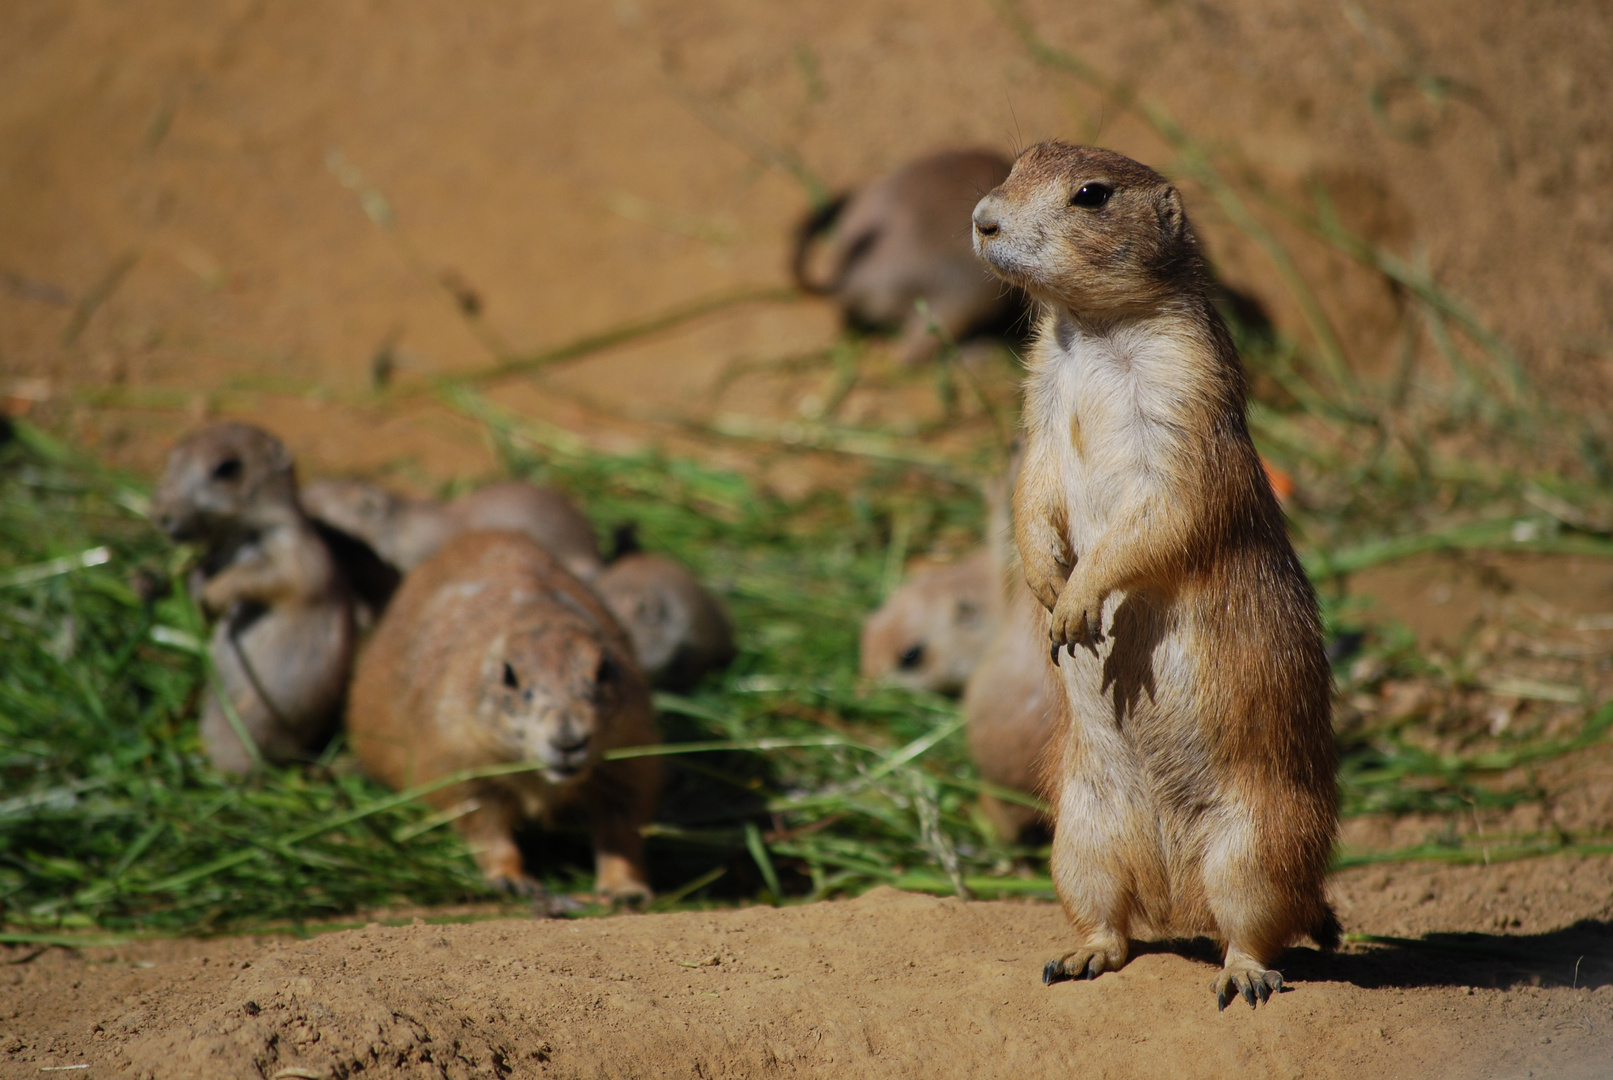
M 781 901 L 876 883 L 1050 895 L 1045 851 L 1005 848 L 976 811 L 981 783 L 957 704 L 855 674 L 858 627 L 881 596 L 892 543 L 923 550 L 977 535 L 973 488 L 890 463 L 848 492 L 784 503 L 689 461 L 603 456 L 558 432 L 482 417 L 511 472 L 569 492 L 602 532 L 634 522 L 734 611 L 732 667 L 687 696 L 658 698 L 671 782 L 650 858 L 663 896 Z M 139 485 L 34 429 L 0 447 L 8 935 L 219 932 L 487 899 L 453 830 L 408 793 L 361 779 L 339 743 L 318 764 L 248 782 L 205 764 L 195 733 L 205 627 L 142 506 Z M 110 558 L 85 566 L 95 559 L 82 553 L 102 546 Z M 131 588 L 135 574 L 174 588 L 145 603 Z M 1345 811 L 1532 798 L 1487 779 L 1573 753 L 1610 722 L 1603 709 L 1566 740 L 1468 756 L 1419 750 L 1397 732 L 1353 737 Z M 577 829 L 534 838 L 532 849 L 552 888 L 586 887 Z

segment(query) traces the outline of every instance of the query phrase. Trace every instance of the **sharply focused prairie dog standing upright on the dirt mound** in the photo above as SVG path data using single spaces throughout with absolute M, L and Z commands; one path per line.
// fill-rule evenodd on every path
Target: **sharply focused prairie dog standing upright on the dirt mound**
M 1203 933 L 1218 1004 L 1253 1006 L 1284 946 L 1339 940 L 1331 672 L 1198 242 L 1158 172 L 1061 143 L 1019 156 L 974 237 L 1042 305 L 1015 542 L 1068 653 L 1048 795 L 1079 937 L 1044 980 Z

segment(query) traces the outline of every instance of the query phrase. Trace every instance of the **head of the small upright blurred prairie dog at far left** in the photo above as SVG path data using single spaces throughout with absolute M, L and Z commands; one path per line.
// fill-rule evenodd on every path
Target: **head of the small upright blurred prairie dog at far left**
M 174 540 L 211 540 L 297 514 L 292 455 L 252 424 L 213 424 L 184 438 L 152 498 L 152 521 Z

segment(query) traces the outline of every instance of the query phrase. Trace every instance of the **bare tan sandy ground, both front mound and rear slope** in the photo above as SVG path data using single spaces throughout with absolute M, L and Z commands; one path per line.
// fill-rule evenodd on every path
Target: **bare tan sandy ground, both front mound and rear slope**
M 1273 190 L 1319 185 L 1607 427 L 1605 3 L 1026 11 Z M 187 427 L 244 416 L 306 474 L 465 482 L 495 461 L 431 379 L 782 285 L 806 206 L 790 160 L 839 189 L 936 145 L 1050 135 L 1169 156 L 974 0 L 15 0 L 0 5 L 0 403 L 147 472 Z M 1224 277 L 1302 335 L 1260 251 L 1210 193 L 1186 197 Z M 1395 363 L 1405 298 L 1268 224 L 1357 363 Z M 477 318 L 455 290 L 474 292 Z M 747 303 L 544 384 L 481 385 L 602 445 L 665 442 L 800 490 L 795 458 L 676 424 L 792 416 L 813 379 L 724 372 L 834 332 L 823 303 Z M 371 376 L 382 355 L 389 388 Z M 926 395 L 853 398 L 847 417 L 913 416 Z M 1426 559 L 1360 588 L 1429 642 L 1519 598 L 1613 611 L 1608 569 L 1571 559 Z M 1607 754 L 1542 783 L 1576 827 L 1613 824 Z M 1439 827 L 1357 820 L 1345 840 L 1395 848 Z M 1192 949 L 1045 988 L 1068 937 L 1057 908 L 889 890 L 784 911 L 11 948 L 0 1075 L 1613 1075 L 1613 861 L 1365 867 L 1334 895 L 1352 933 L 1436 937 L 1297 949 L 1292 991 L 1253 1014 L 1216 1014 Z

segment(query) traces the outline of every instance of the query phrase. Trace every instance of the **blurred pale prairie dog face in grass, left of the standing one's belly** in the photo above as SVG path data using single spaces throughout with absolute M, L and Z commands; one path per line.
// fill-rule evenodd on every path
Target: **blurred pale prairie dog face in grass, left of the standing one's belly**
M 861 672 L 913 690 L 961 692 L 997 632 L 1002 592 L 989 546 L 919 571 L 863 624 Z

